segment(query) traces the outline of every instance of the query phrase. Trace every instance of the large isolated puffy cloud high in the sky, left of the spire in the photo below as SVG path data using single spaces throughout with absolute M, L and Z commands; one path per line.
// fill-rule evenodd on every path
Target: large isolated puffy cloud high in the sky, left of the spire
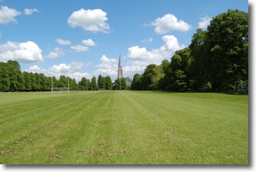
M 106 21 L 106 12 L 101 9 L 78 10 L 73 12 L 67 20 L 71 27 L 82 27 L 86 31 L 109 32 L 110 26 Z

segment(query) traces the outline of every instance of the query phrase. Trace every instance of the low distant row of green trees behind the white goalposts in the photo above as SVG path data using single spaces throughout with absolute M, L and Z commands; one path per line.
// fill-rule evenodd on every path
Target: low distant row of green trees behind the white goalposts
M 28 73 L 20 70 L 19 62 L 8 60 L 0 62 L 0 91 L 51 91 L 52 87 L 70 87 L 70 90 L 125 90 L 127 88 L 125 78 L 116 79 L 113 83 L 110 76 L 99 75 L 92 79 L 82 77 L 78 83 L 76 79 L 61 75 L 59 79 L 55 76 L 49 77 L 41 73 Z

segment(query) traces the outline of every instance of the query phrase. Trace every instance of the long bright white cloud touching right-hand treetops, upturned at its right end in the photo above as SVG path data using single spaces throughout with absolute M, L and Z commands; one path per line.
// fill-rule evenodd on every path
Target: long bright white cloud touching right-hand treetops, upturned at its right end
M 171 54 L 178 49 L 185 48 L 184 45 L 179 45 L 177 38 L 173 35 L 163 36 L 162 40 L 165 42 L 164 45 L 160 48 L 152 49 L 151 51 L 147 51 L 145 47 L 130 47 L 128 48 L 127 57 L 133 60 L 144 61 L 148 64 L 159 64 L 163 59 L 170 57 Z

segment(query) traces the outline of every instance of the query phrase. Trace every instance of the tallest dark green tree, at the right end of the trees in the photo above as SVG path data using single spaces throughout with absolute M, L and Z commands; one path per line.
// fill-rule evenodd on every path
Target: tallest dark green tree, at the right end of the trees
M 206 34 L 205 72 L 214 90 L 227 90 L 234 81 L 248 79 L 244 69 L 248 40 L 248 13 L 229 9 L 211 20 Z

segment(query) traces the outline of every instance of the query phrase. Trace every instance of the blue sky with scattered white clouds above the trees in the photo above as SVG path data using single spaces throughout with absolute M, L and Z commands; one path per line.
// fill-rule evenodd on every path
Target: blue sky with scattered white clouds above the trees
M 196 29 L 245 0 L 0 0 L 0 62 L 76 81 L 142 74 L 188 47 Z

